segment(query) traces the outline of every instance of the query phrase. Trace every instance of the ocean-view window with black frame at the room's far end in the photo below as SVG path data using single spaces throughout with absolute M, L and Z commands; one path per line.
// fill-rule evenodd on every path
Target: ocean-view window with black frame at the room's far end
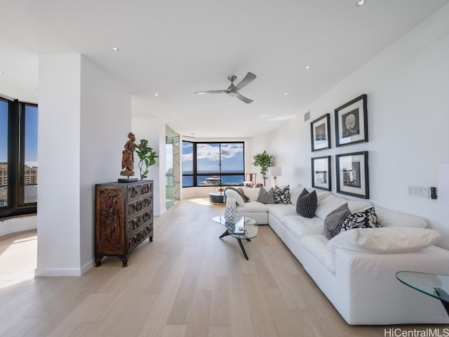
M 243 142 L 182 142 L 182 187 L 243 185 Z

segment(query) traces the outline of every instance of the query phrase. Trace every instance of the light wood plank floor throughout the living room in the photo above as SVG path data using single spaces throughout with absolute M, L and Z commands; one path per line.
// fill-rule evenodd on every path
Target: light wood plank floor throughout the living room
M 155 219 L 121 267 L 105 258 L 82 277 L 38 277 L 36 231 L 0 239 L 0 336 L 392 336 L 349 326 L 269 226 L 252 242 L 219 239 L 223 206 L 180 201 Z M 403 336 L 403 335 L 401 335 Z M 411 335 L 408 335 L 411 336 Z M 421 336 L 421 335 L 420 335 Z

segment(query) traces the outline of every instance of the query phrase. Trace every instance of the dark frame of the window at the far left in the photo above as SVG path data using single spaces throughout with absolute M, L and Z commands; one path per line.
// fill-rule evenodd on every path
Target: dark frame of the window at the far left
M 1 96 L 0 100 L 8 103 L 8 205 L 0 207 L 0 219 L 36 214 L 37 201 L 25 203 L 25 109 L 38 105 Z

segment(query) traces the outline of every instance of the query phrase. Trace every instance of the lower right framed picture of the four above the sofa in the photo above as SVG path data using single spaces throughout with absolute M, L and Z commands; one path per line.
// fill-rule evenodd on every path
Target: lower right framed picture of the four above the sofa
M 369 199 L 368 151 L 337 154 L 337 193 Z

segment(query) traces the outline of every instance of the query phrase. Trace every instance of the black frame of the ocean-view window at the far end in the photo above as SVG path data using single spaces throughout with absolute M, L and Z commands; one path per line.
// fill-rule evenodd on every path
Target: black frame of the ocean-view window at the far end
M 182 172 L 182 181 L 184 181 L 185 176 L 192 177 L 193 183 L 192 186 L 184 186 L 182 184 L 182 188 L 189 188 L 189 187 L 211 187 L 213 185 L 199 185 L 197 183 L 198 177 L 209 177 L 209 176 L 242 176 L 242 182 L 245 180 L 245 142 L 243 141 L 209 141 L 209 142 L 192 142 L 191 140 L 182 140 L 182 143 L 191 143 L 192 144 L 192 174 L 185 174 Z M 219 145 L 220 147 L 220 159 L 219 159 L 219 172 L 218 173 L 198 173 L 198 165 L 197 165 L 197 146 L 198 144 L 213 144 L 213 145 Z M 221 146 L 224 144 L 241 144 L 243 146 L 243 166 L 242 166 L 242 172 L 228 172 L 228 173 L 222 173 L 221 167 L 222 167 L 222 158 L 221 158 Z M 184 148 L 184 146 L 182 146 Z M 235 186 L 235 185 L 227 185 L 224 183 L 221 183 L 222 186 Z M 240 185 L 243 186 L 243 183 Z

